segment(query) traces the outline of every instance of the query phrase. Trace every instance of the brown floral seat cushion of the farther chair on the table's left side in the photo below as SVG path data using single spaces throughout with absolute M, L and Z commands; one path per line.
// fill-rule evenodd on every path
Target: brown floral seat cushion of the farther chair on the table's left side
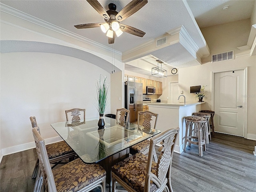
M 73 152 L 73 150 L 64 141 L 46 145 L 46 150 L 49 159 L 56 158 L 58 156 L 62 156 Z

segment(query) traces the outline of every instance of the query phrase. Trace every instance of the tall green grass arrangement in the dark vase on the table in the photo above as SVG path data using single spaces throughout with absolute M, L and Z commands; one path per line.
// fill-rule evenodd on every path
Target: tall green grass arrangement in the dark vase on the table
M 108 107 L 108 92 L 110 83 L 106 82 L 107 77 L 104 77 L 102 80 L 102 75 L 100 74 L 100 78 L 97 80 L 96 88 L 97 88 L 97 103 L 95 107 L 97 108 L 99 114 L 104 114 L 106 108 Z

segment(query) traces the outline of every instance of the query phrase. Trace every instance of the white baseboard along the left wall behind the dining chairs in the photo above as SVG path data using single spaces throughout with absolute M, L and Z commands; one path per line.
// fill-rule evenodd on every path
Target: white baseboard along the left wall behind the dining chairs
M 62 141 L 62 138 L 60 136 L 45 139 L 46 144 L 51 144 L 51 143 L 55 143 L 55 142 L 59 142 L 59 141 Z M 32 149 L 35 147 L 36 147 L 35 142 L 30 142 L 30 143 L 25 143 L 25 144 L 21 144 L 21 145 L 4 148 L 0 151 L 1 161 L 2 161 L 2 157 L 5 155 L 25 151 L 25 150 Z

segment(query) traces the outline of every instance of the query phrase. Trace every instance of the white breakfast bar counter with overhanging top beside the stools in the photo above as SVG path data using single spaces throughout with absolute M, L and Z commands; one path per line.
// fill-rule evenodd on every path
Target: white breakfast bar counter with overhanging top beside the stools
M 148 110 L 158 114 L 156 128 L 162 132 L 169 128 L 180 128 L 178 140 L 174 151 L 183 152 L 183 143 L 186 132 L 185 117 L 191 116 L 194 112 L 201 110 L 205 102 L 186 102 L 184 103 L 148 103 Z

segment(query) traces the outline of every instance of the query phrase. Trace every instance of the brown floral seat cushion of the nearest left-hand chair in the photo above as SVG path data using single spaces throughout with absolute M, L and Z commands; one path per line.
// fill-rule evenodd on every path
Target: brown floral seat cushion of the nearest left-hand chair
M 106 176 L 106 171 L 99 164 L 85 164 L 76 159 L 52 170 L 52 174 L 58 192 L 76 192 Z

